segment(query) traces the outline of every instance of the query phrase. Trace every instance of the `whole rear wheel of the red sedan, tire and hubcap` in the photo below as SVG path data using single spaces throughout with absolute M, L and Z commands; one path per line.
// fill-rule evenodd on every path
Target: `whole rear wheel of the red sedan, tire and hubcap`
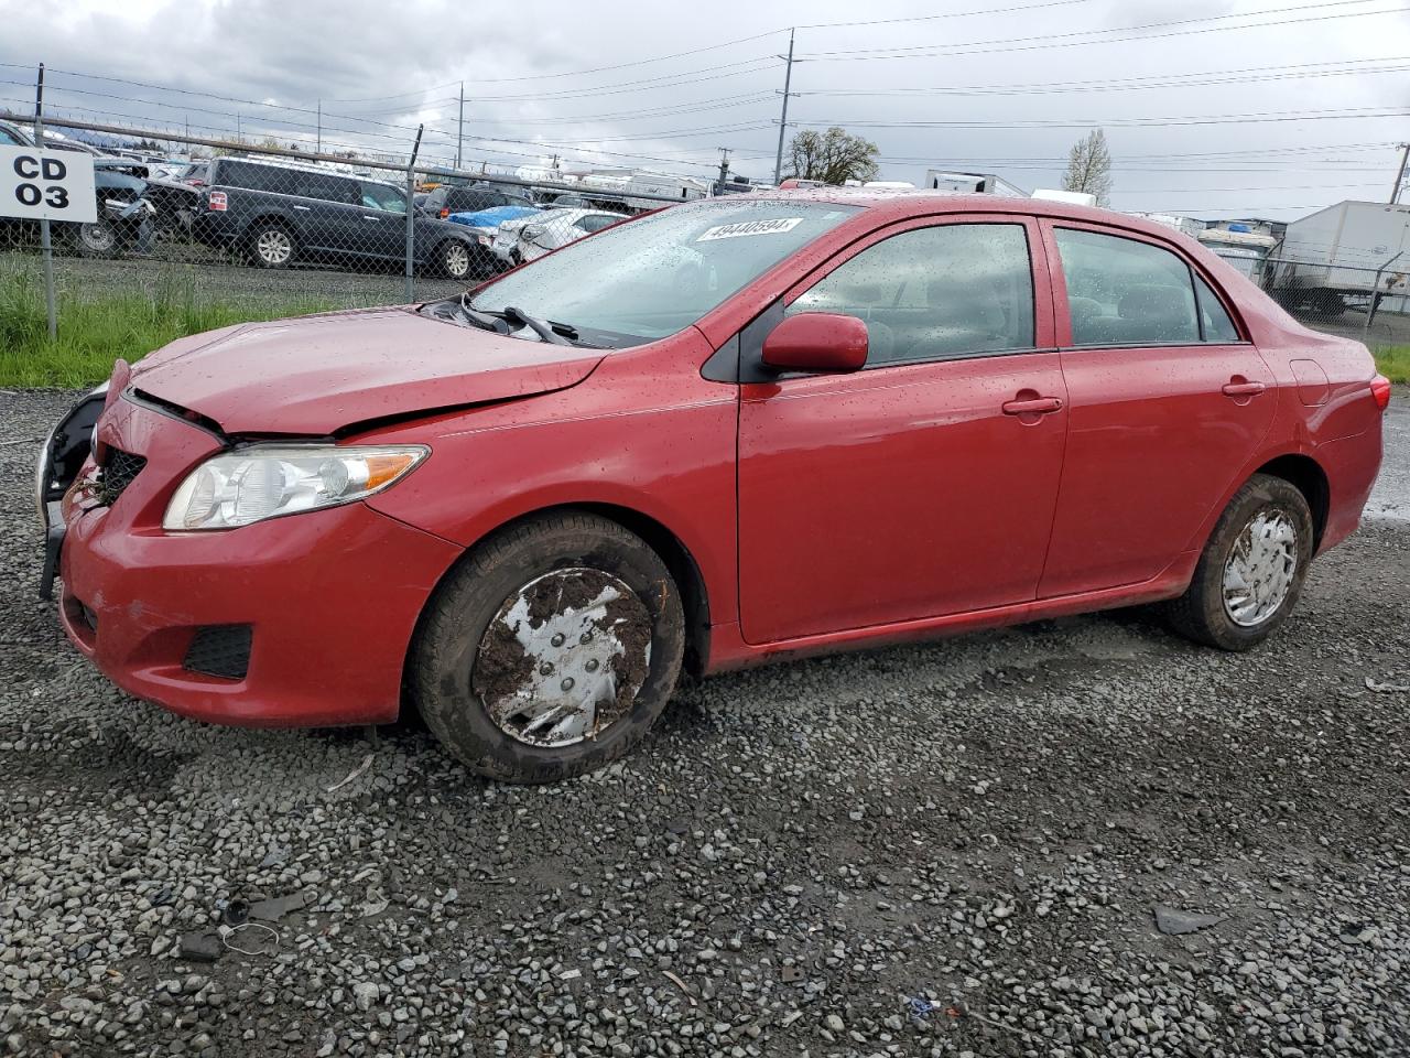
M 1190 587 L 1169 604 L 1170 624 L 1197 643 L 1248 650 L 1297 605 L 1311 557 L 1307 499 L 1282 478 L 1255 474 L 1220 515 Z

